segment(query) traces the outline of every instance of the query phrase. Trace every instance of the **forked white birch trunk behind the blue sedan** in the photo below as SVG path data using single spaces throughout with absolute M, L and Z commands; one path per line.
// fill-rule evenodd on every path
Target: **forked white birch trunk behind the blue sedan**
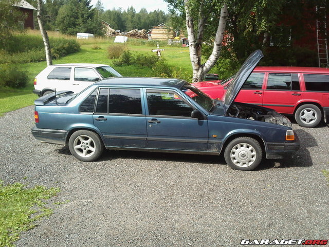
M 200 3 L 200 9 L 202 8 L 203 2 Z M 195 37 L 194 30 L 194 20 L 189 9 L 189 0 L 184 0 L 185 12 L 186 12 L 186 27 L 189 39 L 189 49 L 190 49 L 190 60 L 193 68 L 193 79 L 192 82 L 202 81 L 206 73 L 215 65 L 218 60 L 221 50 L 222 50 L 222 41 L 225 32 L 225 26 L 227 21 L 227 5 L 225 4 L 221 9 L 221 17 L 218 22 L 218 28 L 216 31 L 216 36 L 214 40 L 214 47 L 212 54 L 208 58 L 207 62 L 201 63 L 202 56 L 202 44 L 203 44 L 203 32 L 205 25 L 205 17 L 202 15 L 202 11 L 199 12 L 198 20 L 198 31 L 197 38 Z

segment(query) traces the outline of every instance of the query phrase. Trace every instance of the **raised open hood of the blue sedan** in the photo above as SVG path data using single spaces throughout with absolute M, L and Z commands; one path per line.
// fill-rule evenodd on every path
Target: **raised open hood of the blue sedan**
M 252 70 L 258 64 L 258 62 L 264 57 L 261 50 L 255 50 L 246 61 L 242 64 L 239 71 L 236 73 L 232 82 L 230 83 L 226 94 L 223 97 L 223 108 L 224 114 L 226 115 L 227 110 L 230 108 L 232 102 L 236 98 L 237 94 L 239 94 L 243 83 L 248 79 Z

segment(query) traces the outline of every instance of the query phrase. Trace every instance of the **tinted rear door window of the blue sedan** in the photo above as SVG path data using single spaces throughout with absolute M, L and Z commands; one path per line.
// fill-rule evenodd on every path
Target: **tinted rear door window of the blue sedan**
M 96 112 L 142 114 L 140 89 L 101 89 Z

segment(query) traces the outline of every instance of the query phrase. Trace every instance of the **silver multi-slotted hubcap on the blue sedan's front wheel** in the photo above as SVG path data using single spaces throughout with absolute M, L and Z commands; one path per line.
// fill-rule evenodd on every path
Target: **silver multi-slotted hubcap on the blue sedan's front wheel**
M 231 161 L 240 167 L 251 166 L 257 157 L 255 149 L 247 143 L 235 145 L 231 150 Z

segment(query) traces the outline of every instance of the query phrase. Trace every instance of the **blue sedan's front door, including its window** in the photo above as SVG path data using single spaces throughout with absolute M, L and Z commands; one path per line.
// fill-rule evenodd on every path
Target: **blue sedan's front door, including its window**
M 207 151 L 208 122 L 191 118 L 192 104 L 171 90 L 145 94 L 148 148 Z

